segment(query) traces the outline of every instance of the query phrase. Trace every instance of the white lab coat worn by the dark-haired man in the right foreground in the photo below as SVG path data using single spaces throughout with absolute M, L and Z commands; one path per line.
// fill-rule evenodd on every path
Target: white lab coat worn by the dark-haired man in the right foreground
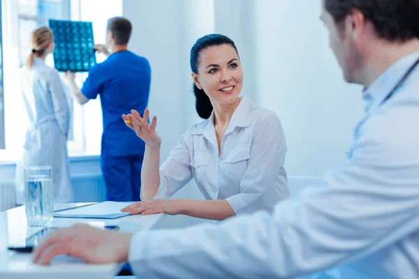
M 400 59 L 364 92 L 353 145 L 324 185 L 279 202 L 273 214 L 137 232 L 135 276 L 419 278 L 419 68 L 384 101 L 417 59 Z

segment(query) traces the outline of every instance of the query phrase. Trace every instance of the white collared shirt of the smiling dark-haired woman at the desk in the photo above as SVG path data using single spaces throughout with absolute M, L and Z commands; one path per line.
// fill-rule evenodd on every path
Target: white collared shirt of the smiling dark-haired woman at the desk
M 221 142 L 221 155 L 212 112 L 172 149 L 160 168 L 153 199 L 171 197 L 194 178 L 205 199 L 226 199 L 235 214 L 272 211 L 274 204 L 289 196 L 286 151 L 277 115 L 244 96 Z

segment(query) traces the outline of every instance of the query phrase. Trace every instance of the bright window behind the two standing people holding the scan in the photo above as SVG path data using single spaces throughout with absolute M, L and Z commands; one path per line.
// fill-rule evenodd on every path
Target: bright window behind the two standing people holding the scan
M 4 56 L 4 127 L 1 126 L 3 114 L 0 92 L 0 148 L 3 135 L 6 149 L 0 150 L 0 160 L 14 161 L 22 154 L 22 145 L 29 125 L 29 121 L 25 119 L 26 110 L 17 73 L 31 52 L 31 32 L 37 27 L 47 25 L 49 19 L 90 21 L 93 22 L 95 43 L 104 43 L 106 20 L 122 15 L 122 0 L 101 0 L 100 7 L 97 1 L 91 0 L 2 0 L 2 4 L 2 22 L 3 27 L 6 27 L 3 29 L 3 51 L 7 56 Z M 97 13 L 98 8 L 101 13 Z M 104 57 L 97 57 L 98 62 L 103 59 Z M 54 66 L 52 55 L 47 56 L 45 63 Z M 76 74 L 79 86 L 86 77 L 87 73 Z M 72 111 L 71 132 L 68 137 L 69 156 L 100 154 L 102 122 L 99 98 L 80 106 L 73 103 L 68 95 L 68 104 Z

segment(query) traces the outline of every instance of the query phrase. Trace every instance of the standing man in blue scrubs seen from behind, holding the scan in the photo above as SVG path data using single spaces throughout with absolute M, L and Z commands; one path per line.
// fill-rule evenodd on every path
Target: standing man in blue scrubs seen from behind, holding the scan
M 89 70 L 80 90 L 74 75 L 66 73 L 71 96 L 83 105 L 101 96 L 103 135 L 101 166 L 106 199 L 116 202 L 140 200 L 141 166 L 145 144 L 126 128 L 122 114 L 131 109 L 144 112 L 149 99 L 151 69 L 144 57 L 128 51 L 131 22 L 123 17 L 108 20 L 106 44 L 95 45 L 108 58 Z

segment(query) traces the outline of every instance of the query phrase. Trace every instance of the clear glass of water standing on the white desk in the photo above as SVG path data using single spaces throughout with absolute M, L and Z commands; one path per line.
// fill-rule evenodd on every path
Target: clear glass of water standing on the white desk
M 51 167 L 24 169 L 24 208 L 29 226 L 50 227 L 54 215 Z

